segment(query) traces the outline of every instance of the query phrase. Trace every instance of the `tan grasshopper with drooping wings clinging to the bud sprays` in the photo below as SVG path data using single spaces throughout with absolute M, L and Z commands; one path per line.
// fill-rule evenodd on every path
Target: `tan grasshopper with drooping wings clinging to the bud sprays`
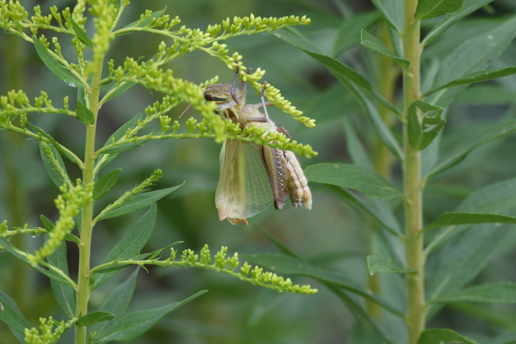
M 260 95 L 261 104 L 246 105 L 246 82 L 242 81 L 241 90 L 235 86 L 238 74 L 237 67 L 233 84 L 206 86 L 204 97 L 218 105 L 215 112 L 224 120 L 238 123 L 241 128 L 254 123 L 266 128 L 267 132 L 276 130 L 290 137 L 286 129 L 269 119 L 266 106 L 272 104 L 265 102 L 267 83 L 264 82 Z M 265 114 L 260 107 L 264 108 Z M 303 205 L 312 209 L 307 178 L 292 151 L 227 139 L 222 145 L 219 163 L 215 204 L 220 220 L 227 218 L 232 224 L 247 224 L 247 218 L 272 203 L 276 209 L 283 208 L 288 196 L 295 207 Z

